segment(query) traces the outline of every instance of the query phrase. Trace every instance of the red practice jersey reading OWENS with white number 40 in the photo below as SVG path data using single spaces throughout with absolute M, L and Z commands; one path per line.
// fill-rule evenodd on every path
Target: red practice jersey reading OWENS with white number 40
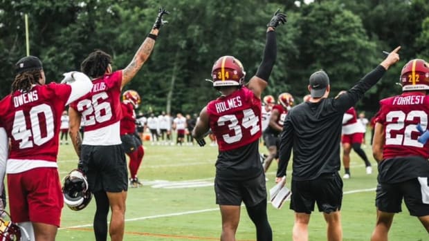
M 10 159 L 56 162 L 61 116 L 71 94 L 68 84 L 35 85 L 0 101 L 0 122 L 10 137 Z

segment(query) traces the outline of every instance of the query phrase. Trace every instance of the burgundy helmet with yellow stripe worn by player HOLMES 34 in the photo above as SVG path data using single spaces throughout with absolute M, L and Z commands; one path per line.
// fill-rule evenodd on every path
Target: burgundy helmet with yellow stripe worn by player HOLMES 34
M 242 86 L 244 72 L 241 62 L 232 56 L 223 56 L 217 59 L 212 68 L 213 87 Z

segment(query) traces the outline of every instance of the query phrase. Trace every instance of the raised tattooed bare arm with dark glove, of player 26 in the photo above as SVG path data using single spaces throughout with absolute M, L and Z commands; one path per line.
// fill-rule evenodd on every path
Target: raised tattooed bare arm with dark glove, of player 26
M 152 30 L 147 35 L 143 44 L 138 48 L 136 55 L 128 64 L 127 68 L 122 70 L 122 84 L 121 88 L 128 84 L 134 76 L 136 76 L 138 70 L 145 64 L 145 61 L 149 58 L 152 50 L 155 46 L 156 37 L 158 37 L 158 32 L 161 26 L 163 26 L 167 21 L 163 20 L 163 15 L 168 15 L 170 12 L 165 10 L 164 8 L 160 8 L 158 10 L 158 16 L 156 17 L 156 21 Z

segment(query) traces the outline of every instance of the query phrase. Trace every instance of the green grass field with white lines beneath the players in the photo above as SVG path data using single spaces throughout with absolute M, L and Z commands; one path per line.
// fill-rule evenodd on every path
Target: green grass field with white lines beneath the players
M 145 157 L 138 171 L 144 186 L 129 189 L 125 240 L 219 240 L 221 218 L 212 185 L 217 147 L 152 146 L 149 142 L 144 146 Z M 266 148 L 261 145 L 260 151 L 266 153 Z M 375 166 L 369 146 L 365 151 Z M 58 164 L 61 177 L 75 168 L 77 157 L 71 145 L 60 146 Z M 267 189 L 274 185 L 276 168 L 273 164 L 268 172 Z M 363 161 L 352 153 L 351 171 L 352 179 L 344 180 L 344 240 L 369 240 L 375 224 L 376 168 L 372 175 L 365 174 Z M 288 186 L 289 181 L 290 175 Z M 246 209 L 241 210 L 237 240 L 255 240 L 253 223 Z M 82 211 L 64 206 L 57 240 L 94 240 L 94 211 L 94 200 Z M 268 218 L 273 240 L 291 240 L 293 211 L 289 202 L 282 209 L 268 204 Z M 318 211 L 311 216 L 309 236 L 309 240 L 326 240 L 325 220 Z M 429 240 L 429 235 L 403 206 L 403 213 L 394 218 L 390 240 L 423 241 Z

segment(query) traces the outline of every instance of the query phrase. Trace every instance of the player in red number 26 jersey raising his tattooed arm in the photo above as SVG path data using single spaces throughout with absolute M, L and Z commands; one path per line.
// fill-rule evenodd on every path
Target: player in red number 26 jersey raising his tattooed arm
M 109 207 L 110 238 L 123 239 L 128 172 L 120 140 L 120 92 L 149 58 L 159 28 L 165 23 L 163 15 L 167 13 L 163 8 L 159 9 L 152 30 L 126 68 L 113 72 L 110 55 L 101 50 L 91 52 L 81 64 L 82 71 L 93 78 L 94 87 L 91 93 L 70 106 L 70 136 L 97 205 L 93 221 L 96 240 L 107 239 Z M 84 122 L 83 141 L 79 133 L 81 119 Z

